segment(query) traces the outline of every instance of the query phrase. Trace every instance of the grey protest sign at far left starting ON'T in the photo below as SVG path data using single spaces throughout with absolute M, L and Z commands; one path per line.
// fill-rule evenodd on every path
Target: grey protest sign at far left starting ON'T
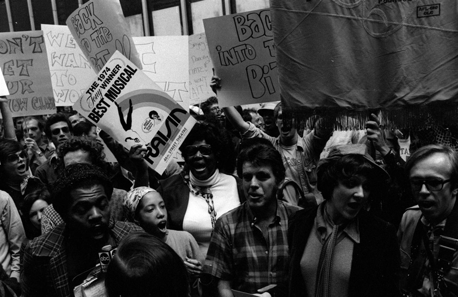
M 0 65 L 13 117 L 55 113 L 43 31 L 0 33 Z

